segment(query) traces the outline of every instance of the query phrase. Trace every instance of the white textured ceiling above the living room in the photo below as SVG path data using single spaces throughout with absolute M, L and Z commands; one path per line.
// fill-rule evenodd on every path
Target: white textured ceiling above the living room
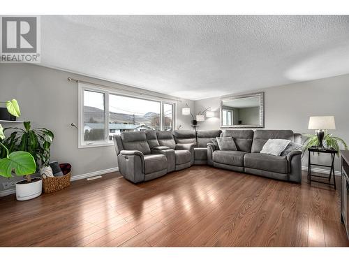
M 43 16 L 43 66 L 203 99 L 349 73 L 349 16 Z

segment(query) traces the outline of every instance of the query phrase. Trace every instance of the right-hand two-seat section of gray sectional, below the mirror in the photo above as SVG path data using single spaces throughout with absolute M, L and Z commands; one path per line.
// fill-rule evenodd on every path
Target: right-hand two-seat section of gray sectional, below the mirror
M 302 150 L 292 150 L 284 157 L 260 153 L 269 138 L 302 143 L 299 133 L 291 130 L 225 130 L 221 136 L 234 138 L 237 151 L 216 150 L 214 144 L 209 144 L 209 155 L 212 156 L 211 164 L 214 167 L 278 180 L 302 181 Z

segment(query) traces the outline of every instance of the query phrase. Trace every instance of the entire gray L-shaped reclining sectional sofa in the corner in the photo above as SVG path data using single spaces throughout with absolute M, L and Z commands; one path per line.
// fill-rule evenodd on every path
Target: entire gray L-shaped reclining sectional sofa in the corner
M 219 150 L 212 138 L 232 137 L 237 150 Z M 135 131 L 114 136 L 119 172 L 138 183 L 195 165 L 209 165 L 290 182 L 302 181 L 301 150 L 261 154 L 269 138 L 302 143 L 291 130 Z

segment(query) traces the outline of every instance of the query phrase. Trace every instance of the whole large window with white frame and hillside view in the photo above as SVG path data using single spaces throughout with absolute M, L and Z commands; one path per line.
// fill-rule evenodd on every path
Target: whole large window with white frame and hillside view
M 175 103 L 79 84 L 79 147 L 112 145 L 121 132 L 173 130 Z

